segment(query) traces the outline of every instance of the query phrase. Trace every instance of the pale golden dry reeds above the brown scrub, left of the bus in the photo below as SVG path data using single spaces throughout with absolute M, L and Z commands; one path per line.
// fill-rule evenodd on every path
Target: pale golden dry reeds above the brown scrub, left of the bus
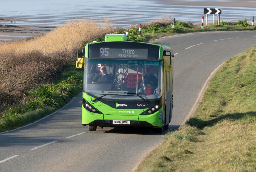
M 37 50 L 43 54 L 59 50 L 73 52 L 81 46 L 83 40 L 93 40 L 97 36 L 113 31 L 113 25 L 106 16 L 104 20 L 94 18 L 75 19 L 58 26 L 53 31 L 31 39 L 8 42 L 0 45 L 0 52 L 17 54 Z

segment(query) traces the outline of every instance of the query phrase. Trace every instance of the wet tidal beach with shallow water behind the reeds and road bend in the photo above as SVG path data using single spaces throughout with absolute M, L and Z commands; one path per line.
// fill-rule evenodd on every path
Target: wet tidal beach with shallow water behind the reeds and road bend
M 29 1 L 25 0 L 24 2 Z M 18 9 L 18 6 L 23 3 L 18 0 L 16 3 L 21 4 L 17 4 L 15 7 L 12 7 L 9 2 L 5 2 L 7 3 L 6 9 L 2 13 L 0 12 L 0 43 L 47 33 L 68 20 L 88 17 L 97 20 L 103 19 L 102 16 L 104 15 L 114 22 L 114 26 L 121 28 L 130 27 L 131 24 L 143 25 L 167 15 L 175 18 L 176 21 L 200 24 L 202 16 L 206 17 L 206 14 L 203 14 L 204 8 L 221 8 L 220 20 L 224 22 L 237 22 L 246 18 L 251 23 L 252 16 L 256 16 L 256 0 L 141 0 L 132 1 L 132 4 L 129 2 L 123 4 L 117 0 L 110 0 L 109 3 L 100 2 L 98 5 L 88 2 L 74 8 L 78 3 L 77 1 L 74 1 L 74 3 L 63 1 L 61 5 L 65 7 L 64 11 L 56 8 L 59 4 L 54 1 L 50 4 L 52 6 L 50 10 L 47 9 L 49 4 L 43 2 L 40 6 L 27 5 L 28 10 Z M 128 4 L 129 9 L 120 10 L 122 7 L 127 7 Z M 105 7 L 106 5 L 108 8 Z M 68 8 L 68 6 L 73 8 Z M 208 17 L 211 21 L 213 15 L 210 14 Z

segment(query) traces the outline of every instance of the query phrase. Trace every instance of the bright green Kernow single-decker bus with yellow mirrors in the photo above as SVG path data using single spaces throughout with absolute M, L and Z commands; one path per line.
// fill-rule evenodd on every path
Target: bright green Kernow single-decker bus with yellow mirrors
M 173 57 L 170 47 L 130 42 L 124 34 L 78 49 L 84 65 L 82 125 L 168 129 L 173 109 Z

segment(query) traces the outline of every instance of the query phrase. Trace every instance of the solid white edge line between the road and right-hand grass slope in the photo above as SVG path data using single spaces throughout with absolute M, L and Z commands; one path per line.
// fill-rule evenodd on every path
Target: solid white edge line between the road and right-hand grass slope
M 187 122 L 187 120 L 190 119 L 191 115 L 193 115 L 192 113 L 193 113 L 194 110 L 197 108 L 197 105 L 198 105 L 198 103 L 199 103 L 199 100 L 200 100 L 202 94 L 204 93 L 204 90 L 205 90 L 205 88 L 206 88 L 208 82 L 210 81 L 210 79 L 212 78 L 212 76 L 215 74 L 215 72 L 216 72 L 224 63 L 225 63 L 225 61 L 224 61 L 222 64 L 220 64 L 216 69 L 214 69 L 214 71 L 213 71 L 213 72 L 210 74 L 210 76 L 207 78 L 206 82 L 205 82 L 204 85 L 203 85 L 203 88 L 201 89 L 201 91 L 200 91 L 200 93 L 199 93 L 199 95 L 198 95 L 198 97 L 197 97 L 197 100 L 195 101 L 195 103 L 194 103 L 193 107 L 191 108 L 189 114 L 187 115 L 186 119 L 183 121 L 183 123 L 182 123 L 181 125 L 184 125 L 184 124 Z

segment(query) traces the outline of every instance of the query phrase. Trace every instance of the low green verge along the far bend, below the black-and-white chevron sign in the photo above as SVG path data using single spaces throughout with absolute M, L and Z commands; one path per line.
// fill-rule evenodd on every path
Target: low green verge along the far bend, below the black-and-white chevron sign
M 256 30 L 255 26 L 248 24 L 247 20 L 238 21 L 236 23 L 226 23 L 221 21 L 220 25 L 212 25 L 208 23 L 207 27 L 201 28 L 201 25 L 193 25 L 193 23 L 176 22 L 174 29 L 172 29 L 172 23 L 168 22 L 162 23 L 161 20 L 157 22 L 152 22 L 148 25 L 142 25 L 141 36 L 138 36 L 138 27 L 133 27 L 129 29 L 129 34 L 127 37 L 128 41 L 135 42 L 146 42 L 162 36 L 177 34 L 177 33 L 189 33 L 189 32 L 205 32 L 205 31 L 225 31 L 225 30 Z M 113 34 L 126 34 L 126 29 L 120 29 Z

